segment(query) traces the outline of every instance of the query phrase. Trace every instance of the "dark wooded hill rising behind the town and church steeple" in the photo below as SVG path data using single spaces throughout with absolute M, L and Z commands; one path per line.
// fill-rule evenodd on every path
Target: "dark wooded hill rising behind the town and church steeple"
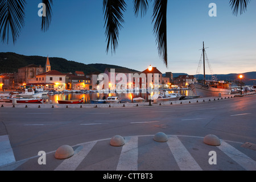
M 15 73 L 18 68 L 25 67 L 30 64 L 44 65 L 47 57 L 43 56 L 24 56 L 13 52 L 0 52 L 0 73 Z M 124 68 L 110 64 L 83 64 L 76 61 L 68 61 L 61 57 L 49 57 L 51 69 L 56 69 L 62 73 L 82 71 L 86 74 L 91 72 L 104 72 L 105 68 Z M 127 68 L 129 69 L 129 68 Z M 129 69 L 134 71 L 133 69 Z

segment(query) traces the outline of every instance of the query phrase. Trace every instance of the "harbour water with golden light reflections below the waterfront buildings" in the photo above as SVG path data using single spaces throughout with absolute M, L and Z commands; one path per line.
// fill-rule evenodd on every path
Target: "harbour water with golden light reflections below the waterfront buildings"
M 191 90 L 170 90 L 167 93 L 180 93 L 184 96 L 193 96 L 193 92 Z M 151 93 L 153 96 L 155 93 Z M 49 94 L 44 96 L 44 103 L 46 104 L 57 104 L 57 100 L 77 100 L 77 99 L 84 99 L 84 104 L 89 104 L 90 100 L 100 100 L 102 97 L 105 96 L 117 96 L 119 100 L 122 98 L 129 98 L 133 100 L 136 97 L 142 97 L 148 102 L 148 94 L 146 93 L 61 93 L 61 94 Z

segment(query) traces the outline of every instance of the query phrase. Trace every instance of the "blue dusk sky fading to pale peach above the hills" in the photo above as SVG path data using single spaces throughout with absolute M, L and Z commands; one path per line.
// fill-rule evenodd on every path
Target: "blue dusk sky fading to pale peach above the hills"
M 126 1 L 125 23 L 113 54 L 111 50 L 106 53 L 102 0 L 53 1 L 52 22 L 47 32 L 40 30 L 40 2 L 27 1 L 26 22 L 17 42 L 14 45 L 10 39 L 9 44 L 1 43 L 0 52 L 63 57 L 84 64 L 113 64 L 138 71 L 152 65 L 162 73 L 195 75 L 204 41 L 214 74 L 256 71 L 256 1 L 251 1 L 247 11 L 238 16 L 233 15 L 228 0 L 168 1 L 168 68 L 158 55 L 152 31 L 152 2 L 146 16 L 136 18 L 133 1 Z M 216 17 L 208 14 L 210 3 L 217 5 Z M 210 73 L 208 67 L 206 73 Z

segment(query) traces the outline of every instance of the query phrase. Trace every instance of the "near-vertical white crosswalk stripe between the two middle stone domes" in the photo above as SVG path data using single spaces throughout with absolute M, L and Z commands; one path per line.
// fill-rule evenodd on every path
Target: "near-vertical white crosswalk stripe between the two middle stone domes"
M 138 171 L 138 137 L 126 137 L 117 171 Z

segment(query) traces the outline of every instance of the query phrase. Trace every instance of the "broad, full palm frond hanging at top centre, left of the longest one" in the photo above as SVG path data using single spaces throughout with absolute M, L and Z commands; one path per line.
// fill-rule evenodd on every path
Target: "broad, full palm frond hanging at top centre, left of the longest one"
M 105 11 L 105 35 L 108 42 L 106 52 L 109 51 L 110 46 L 113 53 L 117 49 L 119 30 L 124 23 L 123 12 L 126 10 L 126 3 L 124 0 L 104 0 L 103 9 Z

